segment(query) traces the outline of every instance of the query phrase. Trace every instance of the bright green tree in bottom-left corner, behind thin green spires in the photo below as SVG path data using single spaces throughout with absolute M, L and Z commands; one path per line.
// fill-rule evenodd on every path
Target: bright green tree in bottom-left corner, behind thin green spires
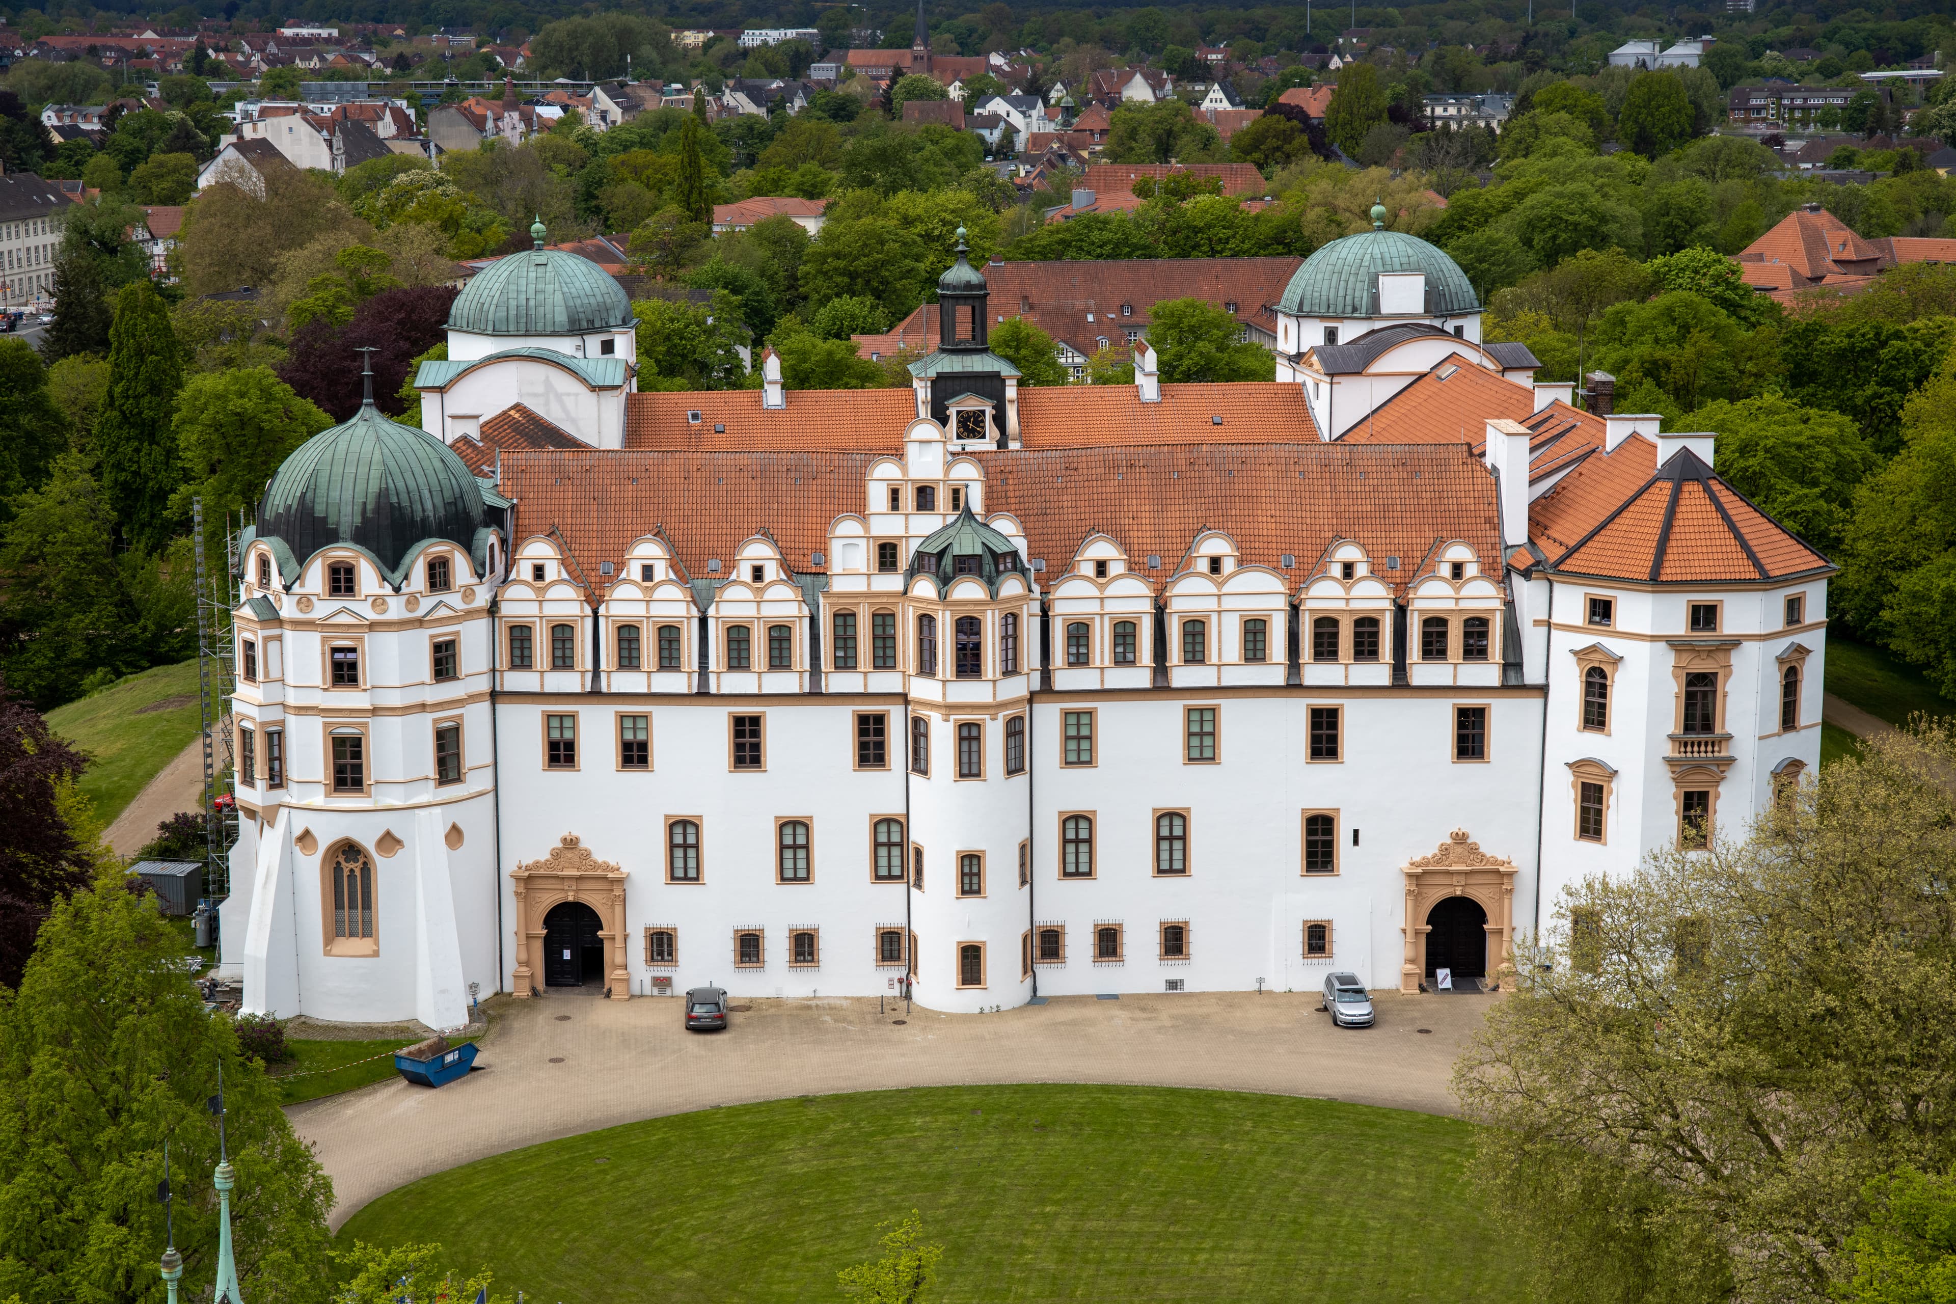
M 217 1267 L 205 1195 L 219 1128 L 237 1173 L 231 1238 L 244 1298 L 319 1300 L 331 1281 L 333 1185 L 280 1110 L 264 1065 L 209 1015 L 190 944 L 94 843 L 98 878 L 55 903 L 20 991 L 0 1005 L 0 1284 L 33 1298 L 155 1294 L 170 1148 L 174 1243 L 192 1298 Z M 57 1212 L 59 1210 L 59 1212 Z M 145 1282 L 145 1284 L 137 1284 Z

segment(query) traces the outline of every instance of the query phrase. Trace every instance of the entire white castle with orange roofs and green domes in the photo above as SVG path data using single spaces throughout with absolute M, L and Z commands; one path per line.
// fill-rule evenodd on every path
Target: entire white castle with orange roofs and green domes
M 248 1009 L 1418 989 L 1819 762 L 1829 563 L 1712 434 L 1582 413 L 1445 254 L 1336 240 L 1279 379 L 638 393 L 538 248 L 243 540 Z M 1330 332 L 1338 334 L 1332 336 Z

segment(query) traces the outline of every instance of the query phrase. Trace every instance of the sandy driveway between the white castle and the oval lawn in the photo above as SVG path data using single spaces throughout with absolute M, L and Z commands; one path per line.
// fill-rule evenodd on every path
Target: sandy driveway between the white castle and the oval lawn
M 1131 1083 L 1455 1110 L 1453 1060 L 1502 997 L 1377 997 L 1373 1028 L 1332 1028 L 1309 993 L 1056 997 L 998 1015 L 876 1001 L 753 1001 L 726 1032 L 681 1001 L 501 1001 L 475 1073 L 393 1079 L 288 1108 L 333 1177 L 338 1228 L 417 1177 L 522 1146 L 708 1105 L 972 1083 Z M 896 1021 L 904 1022 L 896 1022 Z M 1426 1032 L 1422 1032 L 1422 1028 Z

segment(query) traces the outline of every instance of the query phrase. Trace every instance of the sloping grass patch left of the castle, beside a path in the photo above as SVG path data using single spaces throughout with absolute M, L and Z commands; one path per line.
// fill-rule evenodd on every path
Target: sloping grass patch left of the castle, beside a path
M 158 704 L 168 702 L 158 710 Z M 82 792 L 104 825 L 198 737 L 198 663 L 158 665 L 102 692 L 57 706 L 47 723 L 94 761 Z

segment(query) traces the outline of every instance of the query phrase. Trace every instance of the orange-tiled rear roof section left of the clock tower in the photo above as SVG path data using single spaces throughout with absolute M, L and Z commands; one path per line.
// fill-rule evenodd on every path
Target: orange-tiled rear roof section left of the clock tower
M 690 413 L 700 418 L 689 420 Z M 763 409 L 759 389 L 636 393 L 626 399 L 624 446 L 894 454 L 904 446 L 904 426 L 915 416 L 910 389 L 790 389 L 780 409 Z

